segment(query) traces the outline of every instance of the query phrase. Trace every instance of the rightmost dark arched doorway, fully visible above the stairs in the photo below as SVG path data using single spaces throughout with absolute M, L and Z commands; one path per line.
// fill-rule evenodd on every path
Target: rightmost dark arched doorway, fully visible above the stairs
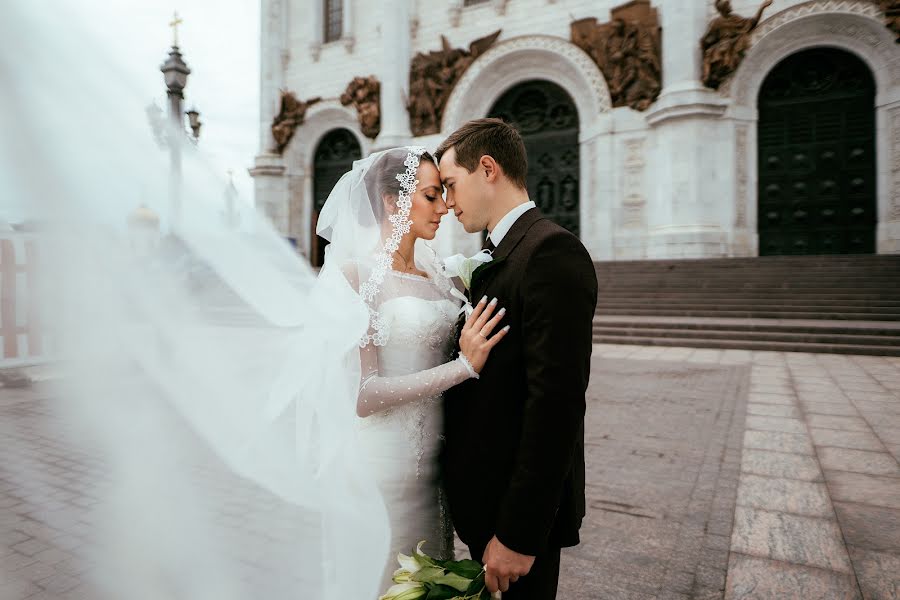
M 759 93 L 759 253 L 875 251 L 875 81 L 856 56 L 804 50 Z

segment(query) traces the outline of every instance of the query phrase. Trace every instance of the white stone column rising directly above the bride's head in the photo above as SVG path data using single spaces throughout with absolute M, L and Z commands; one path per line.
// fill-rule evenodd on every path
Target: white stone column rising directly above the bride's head
M 410 7 L 408 0 L 385 0 L 381 23 L 381 133 L 374 150 L 408 144 L 412 138 L 406 99 L 409 93 Z

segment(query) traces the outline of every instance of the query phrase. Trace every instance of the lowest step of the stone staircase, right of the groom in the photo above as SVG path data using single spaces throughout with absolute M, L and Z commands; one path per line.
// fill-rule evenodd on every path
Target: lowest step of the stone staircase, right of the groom
M 872 356 L 900 356 L 900 348 L 892 346 L 859 346 L 852 344 L 809 344 L 795 342 L 767 342 L 755 340 L 711 340 L 696 338 L 659 338 L 594 335 L 595 344 L 626 344 L 640 346 L 678 346 L 687 348 L 716 348 L 722 350 L 757 350 L 768 352 L 811 352 L 816 354 L 860 354 Z

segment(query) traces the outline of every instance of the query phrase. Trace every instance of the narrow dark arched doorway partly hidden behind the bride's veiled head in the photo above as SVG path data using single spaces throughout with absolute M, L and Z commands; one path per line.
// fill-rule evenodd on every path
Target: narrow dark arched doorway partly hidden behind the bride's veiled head
M 353 161 L 362 157 L 356 136 L 347 129 L 334 129 L 316 146 L 313 162 L 313 212 L 310 226 L 309 261 L 314 267 L 325 262 L 325 246 L 328 242 L 316 235 L 319 212 L 328 199 L 328 194 L 341 176 L 353 167 Z

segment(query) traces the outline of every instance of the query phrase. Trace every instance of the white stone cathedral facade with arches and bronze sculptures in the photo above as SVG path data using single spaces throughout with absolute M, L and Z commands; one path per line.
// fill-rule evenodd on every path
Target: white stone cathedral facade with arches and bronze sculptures
M 256 203 L 315 263 L 352 161 L 522 132 L 595 260 L 900 253 L 895 0 L 262 0 Z M 448 216 L 443 253 L 480 245 Z

